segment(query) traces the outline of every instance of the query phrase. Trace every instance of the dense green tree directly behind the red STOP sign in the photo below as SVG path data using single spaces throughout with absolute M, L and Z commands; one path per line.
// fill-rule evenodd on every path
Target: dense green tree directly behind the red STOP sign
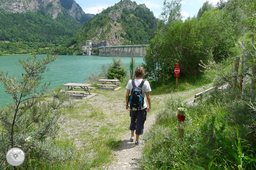
M 176 21 L 168 27 L 168 34 L 163 39 L 171 66 L 179 60 L 185 75 L 198 75 L 201 70 L 200 60 L 207 60 L 198 27 L 196 18 Z

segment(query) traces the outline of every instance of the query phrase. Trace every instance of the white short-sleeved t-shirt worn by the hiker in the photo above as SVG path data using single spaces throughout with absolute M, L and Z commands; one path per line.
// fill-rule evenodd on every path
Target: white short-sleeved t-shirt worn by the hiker
M 142 82 L 142 80 L 143 80 L 143 79 L 140 79 L 140 80 L 135 79 L 135 85 L 136 85 L 136 87 L 139 87 L 139 85 L 140 85 L 140 83 Z M 132 84 L 131 80 L 129 80 L 129 82 L 127 83 L 126 88 L 129 89 L 129 90 L 132 90 L 132 89 L 133 89 L 133 84 Z M 143 104 L 143 106 L 141 106 L 140 109 L 143 110 L 143 109 L 147 108 L 145 93 L 146 93 L 146 92 L 151 92 L 150 84 L 149 84 L 149 82 L 148 82 L 147 80 L 145 80 L 145 82 L 144 82 L 144 84 L 143 84 L 141 90 L 142 90 L 142 95 L 144 96 L 144 104 Z M 127 103 L 126 103 L 126 104 L 127 104 Z M 132 109 L 132 110 L 137 110 L 137 109 Z

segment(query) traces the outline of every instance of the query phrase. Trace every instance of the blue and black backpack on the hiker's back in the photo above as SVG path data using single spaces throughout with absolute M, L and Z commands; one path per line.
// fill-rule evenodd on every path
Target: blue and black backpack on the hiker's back
M 131 109 L 136 108 L 138 111 L 138 109 L 140 109 L 141 106 L 143 106 L 144 104 L 144 96 L 142 95 L 142 90 L 141 90 L 144 82 L 145 80 L 143 79 L 139 87 L 136 87 L 135 80 L 134 79 L 131 80 L 131 83 L 133 84 L 133 88 L 131 89 L 131 95 L 129 96 L 129 99 L 128 99 L 128 103 L 130 103 Z

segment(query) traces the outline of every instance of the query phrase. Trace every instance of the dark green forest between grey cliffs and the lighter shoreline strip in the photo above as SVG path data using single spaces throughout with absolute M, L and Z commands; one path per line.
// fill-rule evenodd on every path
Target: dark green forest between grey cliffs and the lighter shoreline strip
M 71 16 L 59 15 L 53 19 L 41 12 L 0 13 L 0 18 L 1 41 L 59 44 L 81 28 L 81 24 Z

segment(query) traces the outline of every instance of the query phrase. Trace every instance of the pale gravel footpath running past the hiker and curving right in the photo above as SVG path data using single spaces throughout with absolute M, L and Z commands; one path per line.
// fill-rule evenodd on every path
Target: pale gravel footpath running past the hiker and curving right
M 190 92 L 176 92 L 168 95 L 159 95 L 157 98 L 165 100 L 166 98 L 176 98 L 181 97 L 184 95 L 190 95 L 190 93 L 194 92 L 202 92 L 202 88 L 196 88 L 194 90 L 191 90 Z M 188 94 L 189 93 L 189 94 Z M 154 98 L 152 98 L 152 101 Z M 188 103 L 192 103 L 194 100 L 194 96 L 191 95 L 190 98 L 188 98 L 186 101 Z M 147 116 L 147 120 L 145 121 L 144 126 L 144 132 L 146 133 L 150 126 L 155 124 L 155 114 L 152 113 L 150 116 Z M 104 170 L 135 170 L 138 168 L 138 161 L 142 156 L 142 150 L 144 147 L 144 144 L 135 145 L 134 142 L 130 142 L 130 136 L 131 132 L 127 131 L 123 135 L 123 137 L 120 139 L 122 142 L 120 144 L 120 147 L 113 151 L 113 154 L 115 155 L 115 161 L 108 166 L 103 166 L 102 168 Z M 143 135 L 140 136 L 140 140 L 143 140 Z

